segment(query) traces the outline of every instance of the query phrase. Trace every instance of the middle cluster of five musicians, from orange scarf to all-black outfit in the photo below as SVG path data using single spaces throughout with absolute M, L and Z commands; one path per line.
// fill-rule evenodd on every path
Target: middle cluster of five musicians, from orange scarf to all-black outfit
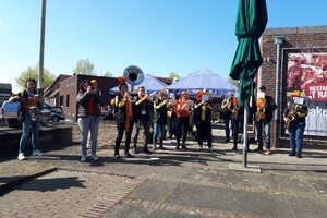
M 209 152 L 214 152 L 211 144 L 211 98 L 206 92 L 199 92 L 196 101 L 191 100 L 187 93 L 183 92 L 179 99 L 174 94 L 170 94 L 167 88 L 158 93 L 146 94 L 144 86 L 137 86 L 137 96 L 132 96 L 128 90 L 128 84 L 121 82 L 119 94 L 112 105 L 116 107 L 116 122 L 118 135 L 116 138 L 114 157 L 120 158 L 119 148 L 125 132 L 124 156 L 133 157 L 130 153 L 130 142 L 135 125 L 133 138 L 133 153 L 137 150 L 137 137 L 140 130 L 143 130 L 143 152 L 149 154 L 148 138 L 150 133 L 150 120 L 153 120 L 153 150 L 166 149 L 164 140 L 166 138 L 166 126 L 169 124 L 169 135 L 175 134 L 175 149 L 187 150 L 186 136 L 190 131 L 190 123 L 196 126 L 196 138 L 198 148 L 203 148 L 206 141 Z M 152 112 L 153 111 L 153 112 Z

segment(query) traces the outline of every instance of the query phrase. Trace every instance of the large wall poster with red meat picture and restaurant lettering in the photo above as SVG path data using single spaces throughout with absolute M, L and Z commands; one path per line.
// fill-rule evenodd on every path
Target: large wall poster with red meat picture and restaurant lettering
M 301 90 L 310 108 L 306 135 L 327 136 L 327 53 L 289 53 L 288 96 Z

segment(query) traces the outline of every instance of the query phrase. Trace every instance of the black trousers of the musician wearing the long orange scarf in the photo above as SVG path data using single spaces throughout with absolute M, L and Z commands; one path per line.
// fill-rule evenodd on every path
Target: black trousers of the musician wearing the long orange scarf
M 119 147 L 120 147 L 122 137 L 124 135 L 124 132 L 125 132 L 124 153 L 126 154 L 126 153 L 129 153 L 129 149 L 130 149 L 131 135 L 132 135 L 132 131 L 133 131 L 133 122 L 130 122 L 129 131 L 125 131 L 125 122 L 117 122 L 116 124 L 117 124 L 118 135 L 117 135 L 116 142 L 114 142 L 114 155 L 119 155 Z

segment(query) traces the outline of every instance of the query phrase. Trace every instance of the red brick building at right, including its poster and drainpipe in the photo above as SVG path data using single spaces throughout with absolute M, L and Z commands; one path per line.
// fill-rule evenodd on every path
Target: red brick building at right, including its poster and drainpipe
M 322 65 L 324 64 L 322 63 L 320 65 L 314 66 L 316 63 L 313 63 L 312 61 L 313 57 L 316 57 L 317 55 L 325 58 L 325 60 L 327 58 L 327 26 L 267 28 L 261 38 L 261 49 L 264 63 L 258 70 L 258 75 L 256 77 L 257 86 L 265 85 L 269 95 L 274 96 L 278 105 L 278 109 L 275 111 L 275 119 L 271 122 L 271 144 L 277 147 L 288 146 L 288 134 L 283 128 L 284 123 L 282 120 L 282 111 L 286 108 L 288 93 L 290 93 L 292 88 L 301 88 L 302 94 L 310 97 L 310 100 L 312 100 L 312 96 L 307 96 L 307 86 L 314 84 L 316 81 L 320 81 L 318 84 L 323 85 L 322 87 L 327 87 L 327 81 L 322 82 L 322 77 L 324 76 L 323 73 L 326 72 L 325 74 L 327 74 L 327 69 L 325 69 L 327 64 Z M 300 72 L 301 75 L 295 75 L 298 78 L 294 77 L 294 75 L 290 75 L 290 64 L 295 62 L 290 59 L 294 59 L 294 57 L 298 59 L 295 61 L 301 62 L 301 68 L 304 70 L 305 68 L 308 70 L 319 68 L 319 71 L 314 69 L 316 72 L 311 72 L 311 77 L 305 77 L 307 75 L 304 71 Z M 300 60 L 301 57 L 311 57 L 312 63 Z M 294 83 L 293 80 L 299 83 L 298 86 L 292 86 Z M 319 104 L 315 106 L 319 107 L 319 113 L 315 113 L 311 108 L 308 116 L 308 119 L 311 120 L 308 120 L 310 123 L 306 122 L 306 129 L 312 130 L 307 130 L 304 133 L 304 144 L 306 145 L 327 145 L 327 128 L 326 124 L 322 123 L 327 120 L 325 99 L 327 98 L 320 98 L 318 99 L 319 101 L 316 102 Z M 315 126 L 313 125 L 322 126 L 320 133 L 315 133 Z

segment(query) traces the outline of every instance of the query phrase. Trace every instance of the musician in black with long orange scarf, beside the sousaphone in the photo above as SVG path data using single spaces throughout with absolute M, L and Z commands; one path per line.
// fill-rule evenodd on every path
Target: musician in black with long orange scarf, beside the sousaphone
M 125 132 L 125 157 L 133 157 L 130 153 L 131 134 L 133 131 L 133 108 L 131 94 L 128 90 L 128 84 L 124 80 L 121 80 L 119 85 L 119 94 L 114 98 L 114 105 L 117 111 L 114 113 L 118 135 L 116 138 L 114 146 L 114 158 L 120 158 L 119 147 Z

